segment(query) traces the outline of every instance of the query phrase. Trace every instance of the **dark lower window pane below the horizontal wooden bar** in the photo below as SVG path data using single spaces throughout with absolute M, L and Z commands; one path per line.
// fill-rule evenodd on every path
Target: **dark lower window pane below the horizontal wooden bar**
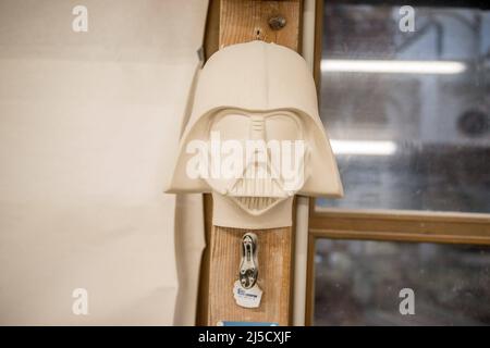
M 315 325 L 490 324 L 490 247 L 318 239 L 315 270 Z

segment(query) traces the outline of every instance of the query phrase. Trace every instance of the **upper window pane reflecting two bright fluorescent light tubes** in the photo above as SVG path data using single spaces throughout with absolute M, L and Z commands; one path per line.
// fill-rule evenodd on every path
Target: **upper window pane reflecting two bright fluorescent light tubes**
M 324 3 L 320 113 L 345 197 L 317 206 L 490 212 L 490 12 L 415 7 L 403 33 L 399 10 Z

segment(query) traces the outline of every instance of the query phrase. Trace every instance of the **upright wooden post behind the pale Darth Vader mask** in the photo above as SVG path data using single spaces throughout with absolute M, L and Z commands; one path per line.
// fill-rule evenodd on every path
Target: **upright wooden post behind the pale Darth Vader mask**
M 219 1 L 219 3 L 218 3 Z M 302 1 L 216 0 L 211 1 L 207 26 L 207 57 L 218 47 L 256 39 L 299 50 Z M 271 17 L 285 20 L 283 27 L 272 28 Z M 277 20 L 277 18 L 275 18 Z M 273 25 L 272 25 L 273 26 Z M 213 36 L 219 28 L 218 40 Z M 203 259 L 197 324 L 217 325 L 220 321 L 269 322 L 291 324 L 292 261 L 294 254 L 292 227 L 254 231 L 258 236 L 258 284 L 264 290 L 259 308 L 237 306 L 233 284 L 238 278 L 242 236 L 248 229 L 212 226 L 212 198 L 206 195 L 207 249 Z M 293 216 L 295 204 L 293 204 Z M 293 219 L 294 221 L 294 219 Z

